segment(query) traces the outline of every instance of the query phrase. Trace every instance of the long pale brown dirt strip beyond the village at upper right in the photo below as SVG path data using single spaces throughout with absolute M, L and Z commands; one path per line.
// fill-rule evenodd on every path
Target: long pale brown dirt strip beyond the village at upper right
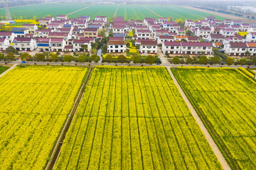
M 246 22 L 246 23 L 256 23 L 256 20 L 254 20 L 254 19 L 248 19 L 248 18 L 244 18 L 244 17 L 233 16 L 233 15 L 230 15 L 230 14 L 224 14 L 224 13 L 221 13 L 221 12 L 214 12 L 214 11 L 210 11 L 210 10 L 206 10 L 206 9 L 200 9 L 200 8 L 186 7 L 186 6 L 182 6 L 182 7 L 187 8 L 187 9 L 197 10 L 197 11 L 200 11 L 200 12 L 209 13 L 209 14 L 224 17 L 224 18 L 227 18 L 227 19 L 228 18 L 229 19 L 235 19 L 235 20 Z

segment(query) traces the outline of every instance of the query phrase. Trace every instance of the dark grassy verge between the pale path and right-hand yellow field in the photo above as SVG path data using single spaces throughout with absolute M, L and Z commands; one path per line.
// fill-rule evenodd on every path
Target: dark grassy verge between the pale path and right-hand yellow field
M 211 123 L 206 119 L 206 117 L 203 114 L 203 111 L 199 109 L 198 105 L 196 104 L 196 102 L 193 100 L 193 97 L 191 96 L 191 94 L 188 92 L 188 90 L 186 89 L 185 85 L 182 83 L 180 77 L 177 74 L 177 71 L 171 68 L 171 71 L 173 73 L 173 75 L 175 76 L 178 84 L 181 86 L 183 92 L 185 93 L 186 97 L 188 98 L 188 100 L 191 102 L 192 106 L 194 107 L 194 110 L 197 112 L 198 116 L 200 117 L 200 119 L 202 120 L 204 126 L 206 127 L 206 129 L 208 130 L 208 132 L 210 133 L 210 135 L 212 136 L 212 139 L 214 140 L 215 144 L 217 144 L 217 146 L 219 147 L 223 157 L 225 158 L 225 160 L 228 162 L 228 164 L 230 165 L 230 168 L 232 170 L 239 170 L 238 165 L 236 164 L 236 162 L 232 159 L 229 151 L 227 150 L 226 146 L 223 144 L 223 142 L 221 141 L 221 138 L 215 133 Z

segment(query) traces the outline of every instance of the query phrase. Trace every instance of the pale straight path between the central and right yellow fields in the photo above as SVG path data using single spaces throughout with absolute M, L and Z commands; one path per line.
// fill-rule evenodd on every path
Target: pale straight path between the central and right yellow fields
M 188 98 L 186 97 L 185 93 L 183 92 L 182 88 L 180 87 L 180 85 L 178 84 L 176 78 L 174 77 L 174 75 L 172 74 L 170 67 L 167 67 L 168 72 L 170 73 L 175 85 L 177 85 L 177 88 L 182 96 L 182 98 L 184 99 L 184 101 L 187 104 L 187 107 L 190 109 L 192 116 L 194 117 L 195 121 L 197 122 L 197 124 L 199 125 L 199 127 L 201 128 L 201 130 L 203 131 L 203 135 L 205 136 L 206 140 L 208 141 L 208 143 L 210 144 L 212 151 L 215 153 L 216 157 L 218 158 L 218 160 L 221 163 L 221 166 L 224 170 L 231 170 L 230 165 L 228 164 L 228 162 L 225 160 L 225 158 L 223 157 L 220 149 L 218 148 L 218 146 L 215 144 L 214 140 L 212 139 L 212 136 L 209 134 L 208 130 L 206 129 L 206 127 L 204 126 L 203 122 L 201 121 L 201 119 L 199 118 L 198 114 L 196 113 L 196 111 L 194 110 L 192 104 L 189 102 Z

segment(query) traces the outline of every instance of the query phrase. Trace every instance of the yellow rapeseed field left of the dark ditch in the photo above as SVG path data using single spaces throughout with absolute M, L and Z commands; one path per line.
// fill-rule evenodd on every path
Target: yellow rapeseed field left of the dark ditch
M 0 78 L 0 169 L 43 170 L 87 68 L 16 67 Z

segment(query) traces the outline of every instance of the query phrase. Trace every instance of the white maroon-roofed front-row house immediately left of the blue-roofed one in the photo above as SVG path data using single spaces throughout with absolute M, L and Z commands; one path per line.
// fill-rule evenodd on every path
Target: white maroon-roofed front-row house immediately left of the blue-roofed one
M 35 39 L 27 37 L 15 37 L 13 47 L 17 51 L 34 51 L 37 48 Z

